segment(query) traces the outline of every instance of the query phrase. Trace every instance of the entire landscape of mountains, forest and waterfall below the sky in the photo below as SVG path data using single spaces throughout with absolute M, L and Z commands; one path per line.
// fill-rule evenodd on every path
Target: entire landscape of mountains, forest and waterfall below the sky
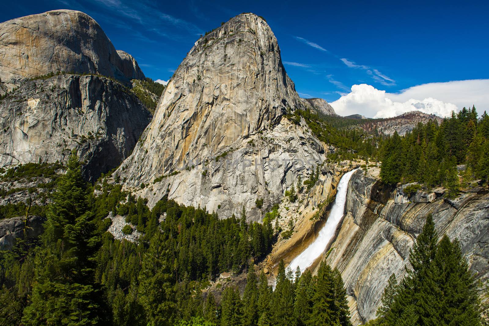
M 166 85 L 82 12 L 0 30 L 0 325 L 488 321 L 485 111 L 339 116 L 252 13 Z

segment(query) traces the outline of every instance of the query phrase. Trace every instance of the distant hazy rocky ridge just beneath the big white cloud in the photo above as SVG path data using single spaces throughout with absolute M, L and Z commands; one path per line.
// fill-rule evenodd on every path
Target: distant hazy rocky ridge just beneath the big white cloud
M 375 129 L 379 133 L 392 136 L 397 131 L 399 135 L 405 135 L 406 132 L 410 132 L 418 125 L 418 123 L 426 123 L 429 120 L 436 121 L 440 124 L 443 119 L 434 114 L 426 114 L 420 111 L 411 111 L 394 118 L 387 119 L 372 119 L 366 122 L 361 127 L 368 132 L 372 132 Z

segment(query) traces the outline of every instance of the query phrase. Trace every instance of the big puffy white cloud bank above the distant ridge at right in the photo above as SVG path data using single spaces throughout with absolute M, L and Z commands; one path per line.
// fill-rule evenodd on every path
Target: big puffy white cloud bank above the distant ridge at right
M 462 107 L 475 105 L 482 113 L 489 107 L 489 79 L 433 82 L 409 87 L 399 93 L 386 93 L 367 84 L 353 85 L 351 92 L 330 103 L 342 116 L 395 117 L 409 111 L 422 111 L 441 117 Z

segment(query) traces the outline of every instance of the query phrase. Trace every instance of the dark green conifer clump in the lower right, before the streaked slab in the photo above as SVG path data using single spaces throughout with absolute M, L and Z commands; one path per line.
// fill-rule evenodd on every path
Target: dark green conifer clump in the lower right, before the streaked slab
M 480 325 L 475 283 L 458 240 L 437 244 L 428 216 L 409 256 L 412 268 L 400 285 L 391 276 L 379 318 L 370 325 Z

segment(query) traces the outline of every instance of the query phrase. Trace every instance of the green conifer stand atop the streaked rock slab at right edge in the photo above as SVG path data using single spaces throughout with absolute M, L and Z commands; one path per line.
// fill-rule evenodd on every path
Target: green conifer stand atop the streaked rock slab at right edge
M 422 183 L 425 188 L 444 186 L 447 195 L 459 193 L 457 164 L 466 164 L 464 183 L 488 181 L 489 116 L 477 118 L 475 107 L 452 113 L 440 126 L 419 123 L 400 137 L 395 133 L 380 142 L 380 177 L 384 183 Z

